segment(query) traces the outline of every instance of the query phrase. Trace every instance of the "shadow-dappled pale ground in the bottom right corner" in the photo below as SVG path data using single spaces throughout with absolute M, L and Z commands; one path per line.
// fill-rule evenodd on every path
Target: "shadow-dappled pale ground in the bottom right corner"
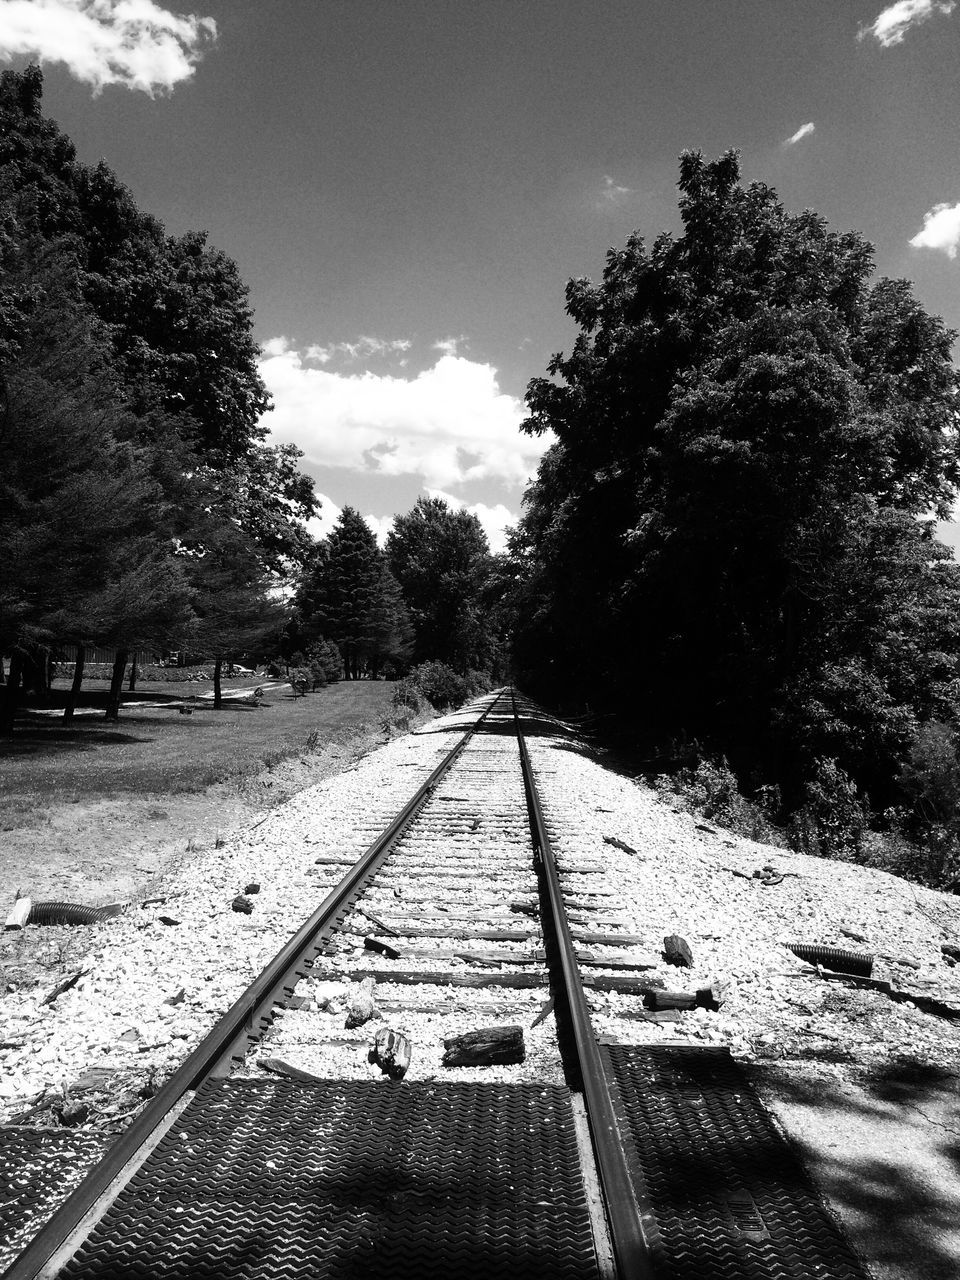
M 956 1280 L 960 1076 L 904 1059 L 855 1082 L 753 1074 L 878 1280 Z

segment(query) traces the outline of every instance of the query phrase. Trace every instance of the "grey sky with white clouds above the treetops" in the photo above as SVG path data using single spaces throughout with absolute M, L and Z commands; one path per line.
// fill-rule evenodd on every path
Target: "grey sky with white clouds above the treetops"
M 739 148 L 960 329 L 957 0 L 0 0 L 31 61 L 81 160 L 237 261 L 316 532 L 426 493 L 503 545 L 564 284 L 678 229 L 685 148 Z

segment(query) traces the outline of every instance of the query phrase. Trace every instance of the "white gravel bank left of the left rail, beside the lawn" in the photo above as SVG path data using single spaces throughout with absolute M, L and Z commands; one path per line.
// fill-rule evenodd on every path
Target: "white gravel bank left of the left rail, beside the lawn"
M 223 847 L 191 855 L 155 882 L 151 899 L 84 931 L 86 952 L 78 951 L 78 931 L 45 929 L 51 952 L 70 947 L 78 955 L 73 968 L 82 977 L 51 1004 L 45 1000 L 52 978 L 28 988 L 8 984 L 0 995 L 0 1124 L 46 1107 L 64 1089 L 76 1094 L 90 1068 L 108 1073 L 91 1120 L 129 1115 L 140 1091 L 186 1057 L 338 882 L 343 868 L 317 867 L 316 856 L 360 855 L 448 750 L 444 728 L 463 722 L 433 721 L 294 796 Z M 260 884 L 250 896 L 253 911 L 233 911 L 251 883 Z M 24 946 L 33 933 L 20 936 Z

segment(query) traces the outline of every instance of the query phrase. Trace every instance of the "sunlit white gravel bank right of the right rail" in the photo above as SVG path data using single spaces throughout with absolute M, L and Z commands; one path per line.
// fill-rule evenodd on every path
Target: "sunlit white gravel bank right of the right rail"
M 576 877 L 584 891 L 613 895 L 594 900 L 600 904 L 594 924 L 602 920 L 602 904 L 616 904 L 609 910 L 617 923 L 646 940 L 643 954 L 655 968 L 645 977 L 660 978 L 673 991 L 714 980 L 726 988 L 718 1012 L 684 1014 L 673 1038 L 728 1044 L 746 1060 L 840 1044 L 861 1061 L 904 1053 L 960 1066 L 960 966 L 951 968 L 941 952 L 942 942 L 960 934 L 960 900 L 886 872 L 733 836 L 673 809 L 567 744 L 531 739 L 530 750 L 561 867 L 564 859 L 604 863 L 589 886 L 582 883 L 588 877 Z M 636 855 L 604 837 L 630 845 Z M 764 887 L 754 878 L 764 867 L 774 867 L 783 879 Z M 690 943 L 692 969 L 660 960 L 663 938 L 673 933 Z M 874 978 L 918 1001 L 937 1000 L 947 1016 L 817 977 L 788 950 L 790 942 L 873 952 Z M 591 1000 L 599 1030 L 628 1043 L 664 1038 L 663 1027 L 618 1016 L 634 997 L 598 993 Z

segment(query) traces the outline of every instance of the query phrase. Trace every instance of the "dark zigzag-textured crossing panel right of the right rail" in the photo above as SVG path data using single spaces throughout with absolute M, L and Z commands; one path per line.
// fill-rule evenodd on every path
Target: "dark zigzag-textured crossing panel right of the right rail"
M 600 1050 L 664 1280 L 869 1280 L 726 1050 Z

